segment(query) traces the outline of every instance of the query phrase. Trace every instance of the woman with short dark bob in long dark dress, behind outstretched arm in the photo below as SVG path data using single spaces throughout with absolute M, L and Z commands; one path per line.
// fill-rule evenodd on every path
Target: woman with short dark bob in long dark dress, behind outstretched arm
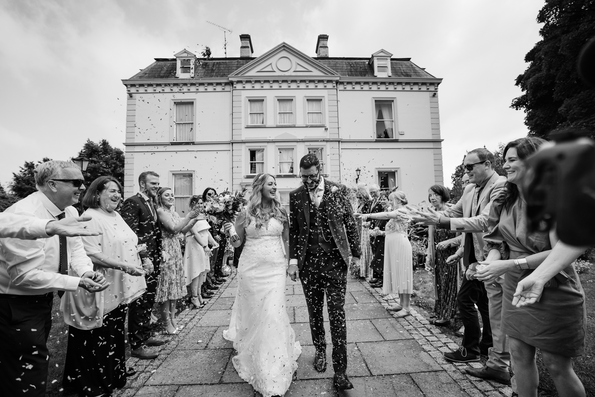
M 428 200 L 436 211 L 444 211 L 450 207 L 451 204 L 447 202 L 449 199 L 450 193 L 444 186 L 434 185 L 428 190 Z M 428 236 L 430 241 L 426 251 L 425 267 L 431 268 L 434 273 L 434 295 L 436 296 L 434 303 L 436 319 L 430 320 L 430 324 L 447 326 L 458 314 L 456 304 L 458 262 L 446 261 L 458 248 L 450 247 L 450 244 L 446 243 L 447 240 L 456 237 L 456 233 L 430 226 Z

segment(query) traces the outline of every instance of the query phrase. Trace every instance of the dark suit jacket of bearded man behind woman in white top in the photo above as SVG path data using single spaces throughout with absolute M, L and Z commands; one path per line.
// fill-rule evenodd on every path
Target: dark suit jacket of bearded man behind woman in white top
M 145 199 L 137 193 L 124 201 L 120 214 L 130 229 L 139 237 L 139 244 L 146 244 L 147 251 L 140 254 L 158 266 L 161 258 L 161 223 L 159 214 L 154 218 Z

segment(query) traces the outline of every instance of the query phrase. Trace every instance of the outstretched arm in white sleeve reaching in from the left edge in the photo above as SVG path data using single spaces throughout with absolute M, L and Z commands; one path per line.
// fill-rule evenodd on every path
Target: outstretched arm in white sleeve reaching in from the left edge
M 87 229 L 84 223 L 81 223 L 90 220 L 89 215 L 54 220 L 0 212 L 0 239 L 10 237 L 11 239 L 35 240 L 55 235 L 64 237 L 100 235 L 101 232 Z

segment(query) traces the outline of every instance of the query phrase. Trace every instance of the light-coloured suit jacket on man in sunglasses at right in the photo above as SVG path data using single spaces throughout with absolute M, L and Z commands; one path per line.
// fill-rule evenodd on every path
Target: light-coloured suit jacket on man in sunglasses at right
M 477 214 L 471 214 L 473 205 L 473 196 L 475 195 L 475 183 L 469 183 L 456 205 L 447 210 L 438 212 L 440 217 L 450 219 L 450 230 L 453 232 L 475 233 L 480 249 L 483 249 L 485 243 L 483 236 L 488 232 L 487 221 L 490 216 L 491 202 L 502 192 L 506 183 L 506 177 L 498 175 L 496 172 L 490 177 L 486 186 L 481 191 L 477 199 Z M 463 242 L 465 240 L 463 239 Z M 461 244 L 458 253 L 462 252 L 464 243 Z

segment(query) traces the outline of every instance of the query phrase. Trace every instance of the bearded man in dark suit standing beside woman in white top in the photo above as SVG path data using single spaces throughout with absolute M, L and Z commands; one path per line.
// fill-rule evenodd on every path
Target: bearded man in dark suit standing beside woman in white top
M 151 309 L 155 304 L 161 257 L 161 228 L 154 201 L 159 190 L 159 175 L 153 171 L 141 173 L 139 186 L 140 192 L 127 198 L 120 211 L 124 221 L 139 237 L 139 244 L 146 244 L 146 251 L 140 253 L 140 257 L 147 270 L 147 288 L 129 306 L 128 332 L 131 355 L 151 359 L 159 353 L 148 346 L 159 346 L 167 342 L 166 339 L 151 336 Z

